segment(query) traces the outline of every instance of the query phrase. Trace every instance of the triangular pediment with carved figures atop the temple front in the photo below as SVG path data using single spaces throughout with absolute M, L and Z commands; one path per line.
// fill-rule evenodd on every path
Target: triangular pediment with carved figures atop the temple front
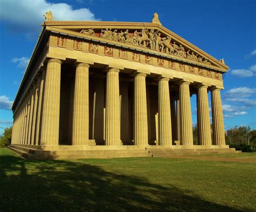
M 132 46 L 143 52 L 226 72 L 228 66 L 157 23 L 48 21 L 46 29 Z

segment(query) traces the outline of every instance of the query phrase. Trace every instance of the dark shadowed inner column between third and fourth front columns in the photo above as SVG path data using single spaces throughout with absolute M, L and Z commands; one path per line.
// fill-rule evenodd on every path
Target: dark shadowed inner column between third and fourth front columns
M 120 82 L 120 118 L 121 140 L 129 140 L 129 106 L 127 81 Z

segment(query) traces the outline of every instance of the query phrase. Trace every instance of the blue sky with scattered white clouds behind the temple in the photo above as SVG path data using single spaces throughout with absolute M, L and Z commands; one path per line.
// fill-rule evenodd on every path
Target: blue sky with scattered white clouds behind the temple
M 221 91 L 225 129 L 256 128 L 256 1 L 1 0 L 0 134 L 12 123 L 10 106 L 47 10 L 52 10 L 56 20 L 125 22 L 151 22 L 158 12 L 167 29 L 213 57 L 224 58 L 230 67 Z M 196 123 L 195 95 L 191 110 Z

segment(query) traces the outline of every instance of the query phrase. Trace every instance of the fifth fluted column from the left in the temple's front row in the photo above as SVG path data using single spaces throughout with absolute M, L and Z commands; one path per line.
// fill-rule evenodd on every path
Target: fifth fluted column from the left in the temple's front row
M 158 115 L 159 115 L 159 145 L 172 145 L 171 105 L 169 79 L 160 78 L 158 81 Z

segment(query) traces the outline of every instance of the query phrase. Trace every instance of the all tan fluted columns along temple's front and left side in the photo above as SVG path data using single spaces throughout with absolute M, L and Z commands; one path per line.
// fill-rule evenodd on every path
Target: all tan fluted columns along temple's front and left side
M 47 68 L 37 76 L 30 89 L 14 113 L 12 144 L 58 145 L 60 111 L 60 72 L 62 61 L 50 59 Z M 89 67 L 77 64 L 72 107 L 72 145 L 89 144 Z M 119 69 L 106 69 L 105 145 L 121 145 L 120 134 L 124 123 L 120 115 L 119 94 L 127 101 L 127 91 L 119 88 Z M 134 77 L 134 145 L 148 145 L 149 116 L 147 110 L 147 91 L 145 73 L 136 72 Z M 99 79 L 100 80 L 100 79 Z M 180 145 L 193 145 L 192 114 L 190 105 L 190 83 L 179 81 L 179 95 L 175 104 L 170 100 L 169 78 L 159 77 L 158 81 L 158 145 L 172 145 L 172 131 L 176 132 Z M 220 89 L 200 85 L 198 89 L 198 129 L 199 144 L 212 145 L 210 113 L 207 90 L 211 91 L 213 145 L 225 145 L 223 111 Z M 102 101 L 103 104 L 103 101 Z M 157 104 L 157 102 L 156 102 Z M 172 115 L 176 115 L 173 122 Z M 103 125 L 102 125 L 103 126 Z M 97 132 L 95 131 L 95 134 Z M 124 136 L 128 134 L 126 132 Z

